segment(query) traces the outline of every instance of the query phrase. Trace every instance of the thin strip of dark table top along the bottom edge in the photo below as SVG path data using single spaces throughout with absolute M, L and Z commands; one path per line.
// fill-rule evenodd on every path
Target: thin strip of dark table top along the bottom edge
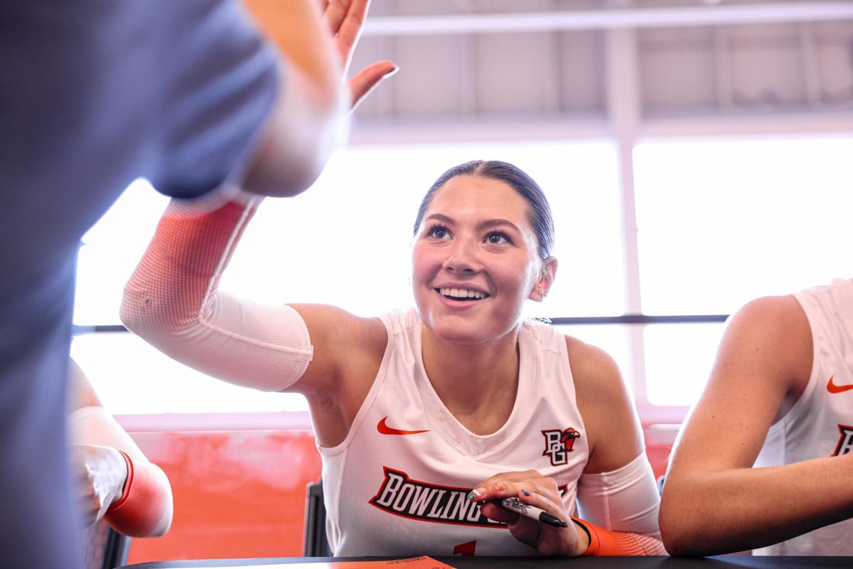
M 281 559 L 217 559 L 156 561 L 123 566 L 119 569 L 183 569 L 184 567 L 245 567 L 287 565 L 291 563 L 323 563 L 331 561 L 391 560 L 399 557 L 286 557 Z M 812 567 L 853 567 L 853 557 L 784 557 L 751 555 L 719 555 L 700 559 L 676 557 L 577 557 L 548 559 L 544 557 L 435 557 L 457 569 L 467 567 L 496 567 L 500 569 L 589 568 L 589 569 L 726 569 L 735 567 L 781 567 L 782 569 L 811 569 Z

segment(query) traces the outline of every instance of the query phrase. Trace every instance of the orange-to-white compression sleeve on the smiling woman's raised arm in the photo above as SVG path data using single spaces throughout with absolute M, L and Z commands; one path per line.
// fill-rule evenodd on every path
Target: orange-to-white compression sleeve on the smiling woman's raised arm
M 218 291 L 222 272 L 257 209 L 207 212 L 173 201 L 125 285 L 127 328 L 181 363 L 239 386 L 281 391 L 313 357 L 308 328 L 290 306 L 261 306 Z

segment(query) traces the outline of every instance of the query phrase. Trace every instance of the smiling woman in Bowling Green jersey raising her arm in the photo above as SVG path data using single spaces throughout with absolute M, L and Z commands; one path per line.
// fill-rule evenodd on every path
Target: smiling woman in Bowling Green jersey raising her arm
M 349 61 L 361 23 L 334 16 L 338 4 L 327 18 L 339 43 L 351 38 Z M 522 318 L 557 272 L 550 208 L 531 177 L 496 161 L 439 177 L 415 220 L 415 307 L 369 318 L 218 291 L 257 206 L 173 202 L 125 287 L 122 320 L 207 374 L 305 395 L 334 554 L 664 553 L 616 365 Z M 566 525 L 496 502 L 507 497 Z

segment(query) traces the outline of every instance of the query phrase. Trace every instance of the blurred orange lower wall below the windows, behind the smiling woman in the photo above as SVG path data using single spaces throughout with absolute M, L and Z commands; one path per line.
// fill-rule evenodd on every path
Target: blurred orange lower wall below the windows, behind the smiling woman
M 659 476 L 670 445 L 644 427 Z M 175 500 L 169 533 L 132 540 L 129 563 L 302 554 L 305 485 L 320 478 L 310 428 L 125 428 L 169 476 Z

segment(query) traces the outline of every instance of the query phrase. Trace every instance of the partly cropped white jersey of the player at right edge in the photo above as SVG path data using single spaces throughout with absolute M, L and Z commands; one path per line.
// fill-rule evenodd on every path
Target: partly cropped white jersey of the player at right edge
M 853 450 L 853 281 L 795 293 L 809 318 L 815 346 L 809 385 L 770 427 L 755 466 L 769 467 L 844 455 Z M 853 520 L 827 525 L 758 555 L 853 555 Z

